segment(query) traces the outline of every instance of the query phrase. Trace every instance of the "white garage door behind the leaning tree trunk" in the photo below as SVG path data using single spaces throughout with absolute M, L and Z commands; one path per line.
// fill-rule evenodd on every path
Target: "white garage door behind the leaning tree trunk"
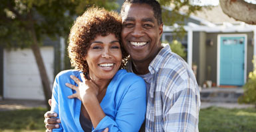
M 41 46 L 49 81 L 53 84 L 55 75 L 63 67 L 64 40 L 47 38 Z M 60 63 L 62 62 L 62 63 Z M 43 86 L 31 48 L 0 47 L 0 99 L 45 100 Z

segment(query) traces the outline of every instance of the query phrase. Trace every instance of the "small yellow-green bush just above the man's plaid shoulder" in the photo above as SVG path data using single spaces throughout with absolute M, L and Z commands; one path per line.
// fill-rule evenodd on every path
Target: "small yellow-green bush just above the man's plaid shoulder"
M 167 41 L 165 41 L 163 43 L 166 43 L 166 42 Z M 178 55 L 180 55 L 180 57 L 182 57 L 183 59 L 186 60 L 187 53 L 185 51 L 185 47 L 182 46 L 182 43 L 178 42 L 178 40 L 173 40 L 172 43 L 170 43 L 169 45 L 174 53 L 177 53 Z

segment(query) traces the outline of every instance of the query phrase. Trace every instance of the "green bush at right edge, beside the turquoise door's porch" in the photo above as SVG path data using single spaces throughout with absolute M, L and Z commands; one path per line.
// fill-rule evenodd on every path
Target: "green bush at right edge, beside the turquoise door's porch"
M 253 61 L 253 65 L 256 66 L 255 61 Z M 238 101 L 256 106 L 256 69 L 249 73 L 249 79 L 243 86 L 243 96 L 240 96 Z

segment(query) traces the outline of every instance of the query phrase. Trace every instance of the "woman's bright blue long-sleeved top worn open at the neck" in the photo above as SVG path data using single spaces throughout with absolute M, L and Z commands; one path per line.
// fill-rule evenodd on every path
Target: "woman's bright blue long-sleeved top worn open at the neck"
M 60 128 L 53 131 L 83 131 L 79 122 L 81 101 L 77 98 L 69 99 L 74 90 L 65 83 L 77 84 L 70 79 L 74 75 L 80 79 L 80 71 L 67 70 L 59 73 L 53 84 L 52 112 L 56 112 L 61 119 Z M 81 79 L 80 79 L 81 80 Z M 106 95 L 100 102 L 106 116 L 92 131 L 103 131 L 108 127 L 114 131 L 139 131 L 146 114 L 146 85 L 144 80 L 134 73 L 119 70 L 114 75 Z

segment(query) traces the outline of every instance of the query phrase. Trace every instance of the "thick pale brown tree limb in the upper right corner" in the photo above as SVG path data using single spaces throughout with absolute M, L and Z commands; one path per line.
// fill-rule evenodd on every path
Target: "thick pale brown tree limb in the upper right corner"
M 247 24 L 256 24 L 256 5 L 244 0 L 219 0 L 223 13 L 243 21 Z

